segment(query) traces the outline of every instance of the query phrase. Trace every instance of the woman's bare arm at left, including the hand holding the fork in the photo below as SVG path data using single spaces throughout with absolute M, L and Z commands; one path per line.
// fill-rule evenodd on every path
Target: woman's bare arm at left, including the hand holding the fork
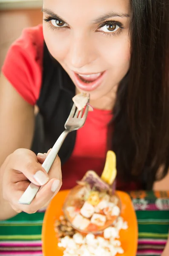
M 34 107 L 22 99 L 7 79 L 1 76 L 0 220 L 11 218 L 16 212 L 36 212 L 49 204 L 62 185 L 59 157 L 55 158 L 47 174 L 42 167 L 46 154 L 36 156 L 26 149 L 31 146 L 33 131 Z M 30 182 L 42 187 L 30 205 L 19 204 Z

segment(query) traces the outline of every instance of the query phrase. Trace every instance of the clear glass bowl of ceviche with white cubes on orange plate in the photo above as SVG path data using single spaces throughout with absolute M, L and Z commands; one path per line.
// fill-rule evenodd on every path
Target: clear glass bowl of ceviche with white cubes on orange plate
M 89 192 L 86 186 L 77 185 L 66 197 L 63 213 L 75 230 L 98 235 L 120 216 L 121 201 L 116 193 Z

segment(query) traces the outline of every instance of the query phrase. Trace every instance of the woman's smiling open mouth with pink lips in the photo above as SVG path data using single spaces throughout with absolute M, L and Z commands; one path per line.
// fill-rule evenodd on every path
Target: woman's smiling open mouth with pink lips
M 106 73 L 105 71 L 99 72 L 99 73 L 94 73 L 94 74 L 74 73 L 75 84 L 81 90 L 85 90 L 85 91 L 94 90 L 103 81 L 103 76 L 105 73 Z

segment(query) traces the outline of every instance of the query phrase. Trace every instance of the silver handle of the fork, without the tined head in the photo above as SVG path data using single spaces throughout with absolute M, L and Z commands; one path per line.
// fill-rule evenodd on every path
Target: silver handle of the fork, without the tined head
M 65 140 L 66 136 L 69 134 L 70 131 L 65 130 L 60 135 L 60 137 L 57 139 L 56 143 L 54 144 L 53 148 L 51 149 L 49 155 L 46 157 L 45 161 L 42 164 L 42 167 L 45 169 L 45 171 L 48 173 L 54 159 L 57 156 L 57 153 L 60 150 L 61 145 L 63 144 L 63 141 Z M 40 189 L 40 186 L 35 185 L 34 183 L 30 183 L 26 191 L 23 193 L 23 195 L 19 199 L 19 204 L 31 204 L 32 200 L 34 199 L 35 195 L 37 194 L 38 190 Z

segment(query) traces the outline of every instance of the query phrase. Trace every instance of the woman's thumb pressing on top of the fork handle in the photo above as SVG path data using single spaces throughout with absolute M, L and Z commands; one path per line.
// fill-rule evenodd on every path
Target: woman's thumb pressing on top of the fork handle
M 17 149 L 12 154 L 10 165 L 11 169 L 23 173 L 28 180 L 36 185 L 42 186 L 49 181 L 49 176 L 45 169 L 38 163 L 36 154 L 28 149 Z M 17 175 L 15 176 L 17 178 Z M 14 175 L 9 175 L 9 177 L 12 178 Z M 13 180 L 9 181 L 13 182 Z

